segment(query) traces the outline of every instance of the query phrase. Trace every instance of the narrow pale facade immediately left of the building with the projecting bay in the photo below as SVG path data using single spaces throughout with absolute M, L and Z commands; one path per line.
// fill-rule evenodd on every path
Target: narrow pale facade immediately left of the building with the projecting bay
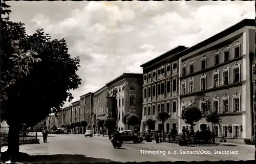
M 97 126 L 97 119 L 105 120 L 107 119 L 108 112 L 106 110 L 106 92 L 107 87 L 103 86 L 93 94 L 93 114 L 91 120 L 91 127 L 93 132 L 98 133 L 100 128 Z M 106 129 L 104 129 L 106 132 Z

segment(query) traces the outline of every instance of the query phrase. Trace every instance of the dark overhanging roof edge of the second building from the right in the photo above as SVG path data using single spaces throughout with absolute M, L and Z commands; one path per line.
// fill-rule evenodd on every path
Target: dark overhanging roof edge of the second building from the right
M 173 48 L 172 50 L 169 50 L 169 51 L 165 52 L 164 54 L 162 54 L 162 55 L 160 55 L 160 56 L 158 56 L 158 57 L 140 65 L 140 66 L 141 67 L 146 67 L 148 65 L 152 65 L 153 63 L 156 63 L 157 61 L 162 60 L 162 59 L 168 57 L 169 55 L 179 53 L 179 52 L 184 51 L 186 49 L 187 49 L 187 47 L 185 47 L 184 45 L 176 46 L 176 48 Z

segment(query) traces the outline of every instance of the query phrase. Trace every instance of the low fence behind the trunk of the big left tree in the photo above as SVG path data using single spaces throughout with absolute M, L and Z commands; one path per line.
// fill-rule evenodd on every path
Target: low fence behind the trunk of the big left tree
M 1 144 L 2 146 L 8 144 L 8 133 L 1 133 Z M 27 133 L 26 135 L 20 134 L 19 135 L 19 144 L 32 144 L 37 143 L 37 133 Z

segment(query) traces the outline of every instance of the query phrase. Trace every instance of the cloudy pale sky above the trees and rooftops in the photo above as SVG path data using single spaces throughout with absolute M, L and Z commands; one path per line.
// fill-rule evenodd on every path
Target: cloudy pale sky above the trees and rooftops
M 79 89 L 73 101 L 122 73 L 142 73 L 141 64 L 178 45 L 193 46 L 242 19 L 254 19 L 254 2 L 7 2 L 12 21 L 28 34 L 44 29 L 65 38 L 80 57 Z M 70 103 L 66 103 L 68 106 Z

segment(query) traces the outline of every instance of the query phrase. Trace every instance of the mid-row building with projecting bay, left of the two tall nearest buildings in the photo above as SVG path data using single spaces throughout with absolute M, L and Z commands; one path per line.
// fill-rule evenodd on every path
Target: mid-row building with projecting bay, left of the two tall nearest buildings
M 122 123 L 124 113 L 134 113 L 141 120 L 142 83 L 142 74 L 124 73 L 106 84 L 108 87 L 106 95 L 108 117 L 117 120 L 118 130 L 126 130 L 128 128 L 127 125 L 124 126 Z M 130 127 L 131 130 L 134 130 L 133 128 Z

